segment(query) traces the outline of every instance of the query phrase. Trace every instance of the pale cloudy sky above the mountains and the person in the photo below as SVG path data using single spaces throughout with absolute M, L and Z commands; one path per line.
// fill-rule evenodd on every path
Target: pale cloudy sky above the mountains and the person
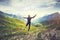
M 60 0 L 0 0 L 0 11 L 36 18 L 60 11 Z M 35 19 L 36 19 L 35 18 Z

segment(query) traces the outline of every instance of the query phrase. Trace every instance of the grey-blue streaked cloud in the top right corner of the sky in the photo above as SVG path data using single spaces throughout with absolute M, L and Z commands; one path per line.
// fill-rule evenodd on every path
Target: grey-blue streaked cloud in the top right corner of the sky
M 53 8 L 60 9 L 60 0 L 52 0 L 39 5 L 38 8 Z

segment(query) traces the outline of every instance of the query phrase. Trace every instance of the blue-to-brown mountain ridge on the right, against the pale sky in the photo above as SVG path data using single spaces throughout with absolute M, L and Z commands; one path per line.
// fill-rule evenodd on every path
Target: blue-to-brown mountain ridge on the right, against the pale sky
M 53 14 L 39 18 L 38 21 L 45 22 L 45 21 L 50 21 L 50 20 L 57 20 L 57 18 L 60 18 L 59 12 L 55 12 Z

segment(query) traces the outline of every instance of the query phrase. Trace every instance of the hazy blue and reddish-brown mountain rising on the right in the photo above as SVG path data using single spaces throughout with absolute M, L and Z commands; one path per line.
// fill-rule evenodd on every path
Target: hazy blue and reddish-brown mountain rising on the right
M 60 20 L 60 14 L 58 12 L 52 13 L 51 15 L 47 15 L 38 19 L 39 22 L 44 24 L 49 24 L 50 22 L 54 22 L 57 20 Z

